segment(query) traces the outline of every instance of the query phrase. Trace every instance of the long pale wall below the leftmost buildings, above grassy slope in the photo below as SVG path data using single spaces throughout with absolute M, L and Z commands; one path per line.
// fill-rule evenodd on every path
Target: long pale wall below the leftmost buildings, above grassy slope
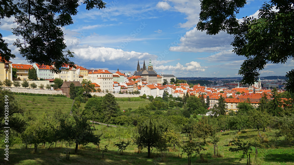
M 23 93 L 40 93 L 40 94 L 63 94 L 62 91 L 48 90 L 48 89 L 28 89 L 28 88 L 15 88 L 15 87 L 2 87 L 5 89 L 10 89 L 11 92 L 23 92 Z

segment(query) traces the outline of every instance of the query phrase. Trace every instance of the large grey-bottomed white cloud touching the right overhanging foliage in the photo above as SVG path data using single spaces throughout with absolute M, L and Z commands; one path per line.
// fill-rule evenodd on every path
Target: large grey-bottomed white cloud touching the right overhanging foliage
M 175 52 L 220 52 L 232 49 L 230 45 L 233 36 L 225 32 L 217 35 L 206 35 L 205 31 L 196 28 L 186 32 L 178 45 L 172 45 L 169 50 Z

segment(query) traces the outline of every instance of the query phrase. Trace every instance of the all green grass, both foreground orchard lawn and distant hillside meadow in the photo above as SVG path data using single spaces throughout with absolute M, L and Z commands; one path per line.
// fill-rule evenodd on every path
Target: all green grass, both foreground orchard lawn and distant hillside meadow
M 19 105 L 23 106 L 25 109 L 31 109 L 32 113 L 40 118 L 42 114 L 47 111 L 49 114 L 53 114 L 53 111 L 57 108 L 60 108 L 62 112 L 68 113 L 72 100 L 70 98 L 55 98 L 53 102 L 48 100 L 48 97 L 44 96 L 21 96 L 16 95 L 16 100 Z M 36 102 L 32 104 L 30 101 L 35 98 Z M 126 107 L 132 104 L 127 103 L 135 103 L 137 104 L 147 104 L 149 101 L 141 98 L 131 98 L 131 101 L 124 101 L 124 99 L 128 98 L 117 98 L 120 105 L 125 105 Z M 84 107 L 84 103 L 81 104 L 82 108 Z M 126 108 L 127 109 L 127 108 Z M 133 108 L 132 108 L 133 109 Z M 200 118 L 202 116 L 197 116 Z M 91 124 L 91 123 L 89 123 Z M 102 128 L 105 127 L 103 125 L 95 125 L 97 129 L 96 133 L 101 133 Z M 107 129 L 116 130 L 115 127 L 109 127 Z M 284 137 L 275 138 L 273 135 L 276 130 L 267 130 L 267 132 L 262 132 L 263 136 L 266 139 L 266 143 L 263 144 L 263 148 L 258 149 L 258 156 L 255 159 L 255 148 L 252 148 L 253 151 L 251 153 L 251 164 L 281 164 L 281 165 L 294 165 L 294 147 L 293 144 L 290 144 L 288 141 L 284 139 Z M 220 157 L 214 158 L 213 155 L 213 144 L 211 143 L 211 139 L 206 139 L 207 145 L 203 146 L 206 150 L 201 151 L 203 157 L 205 159 L 205 163 L 202 164 L 246 164 L 247 159 L 243 159 L 239 161 L 241 157 L 241 153 L 239 152 L 230 152 L 229 147 L 224 145 L 229 144 L 229 141 L 233 140 L 236 135 L 240 137 L 240 140 L 248 141 L 253 140 L 254 137 L 258 135 L 257 130 L 242 130 L 238 131 L 226 131 L 226 132 L 218 132 L 220 136 L 220 142 L 218 143 L 218 153 Z M 181 156 L 182 150 L 176 146 L 176 150 L 172 147 L 168 147 L 168 150 L 165 152 L 164 156 L 162 156 L 161 152 L 158 150 L 152 150 L 152 158 L 147 158 L 147 149 L 143 149 L 140 154 L 137 153 L 138 148 L 136 145 L 133 145 L 132 139 L 131 145 L 123 151 L 123 155 L 120 155 L 118 152 L 118 148 L 114 146 L 114 143 L 118 143 L 122 141 L 123 138 L 119 139 L 116 137 L 109 141 L 109 139 L 101 139 L 100 149 L 103 148 L 106 144 L 109 145 L 108 152 L 105 153 L 104 159 L 102 159 L 102 151 L 98 150 L 97 146 L 93 144 L 88 144 L 82 146 L 78 149 L 78 154 L 74 153 L 74 145 L 70 147 L 66 147 L 64 142 L 57 142 L 56 148 L 55 144 L 53 148 L 48 150 L 49 144 L 46 144 L 45 148 L 39 145 L 37 153 L 33 153 L 34 145 L 29 146 L 28 149 L 25 149 L 24 144 L 14 145 L 13 147 L 9 147 L 9 164 L 187 164 L 187 155 L 183 154 Z M 127 139 L 124 138 L 126 141 Z M 186 135 L 181 135 L 181 140 L 187 141 L 188 137 Z M 202 139 L 196 139 L 199 141 L 203 141 Z M 62 146 L 61 146 L 62 144 Z M 1 148 L 3 151 L 3 148 Z M 66 151 L 71 151 L 70 159 L 66 160 Z M 191 158 L 191 164 L 197 164 L 198 156 Z M 0 159 L 0 163 L 5 163 L 4 159 Z

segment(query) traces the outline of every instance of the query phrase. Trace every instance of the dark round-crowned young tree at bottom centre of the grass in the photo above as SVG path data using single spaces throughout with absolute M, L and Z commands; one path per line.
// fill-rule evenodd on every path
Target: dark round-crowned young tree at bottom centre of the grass
M 156 147 L 158 140 L 161 137 L 161 134 L 158 132 L 156 125 L 150 122 L 149 124 L 143 123 L 138 125 L 136 128 L 137 135 L 134 137 L 134 144 L 138 146 L 138 148 L 147 148 L 148 150 L 148 158 L 151 156 L 151 148 Z

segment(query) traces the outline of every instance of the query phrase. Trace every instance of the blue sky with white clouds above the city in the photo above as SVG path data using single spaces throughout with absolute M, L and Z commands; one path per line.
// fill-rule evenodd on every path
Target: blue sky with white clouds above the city
M 158 74 L 177 77 L 240 77 L 238 70 L 245 57 L 232 52 L 233 36 L 220 32 L 206 35 L 196 29 L 200 13 L 198 0 L 114 0 L 103 1 L 104 9 L 86 10 L 80 3 L 74 24 L 62 27 L 71 59 L 86 69 L 107 69 L 114 73 L 137 69 L 139 60 Z M 261 0 L 249 0 L 240 9 L 238 19 L 257 17 Z M 12 43 L 18 38 L 14 18 L 1 20 L 0 33 L 9 44 L 16 64 L 29 64 Z M 20 38 L 21 39 L 21 38 Z M 285 75 L 294 61 L 267 64 L 260 76 Z

